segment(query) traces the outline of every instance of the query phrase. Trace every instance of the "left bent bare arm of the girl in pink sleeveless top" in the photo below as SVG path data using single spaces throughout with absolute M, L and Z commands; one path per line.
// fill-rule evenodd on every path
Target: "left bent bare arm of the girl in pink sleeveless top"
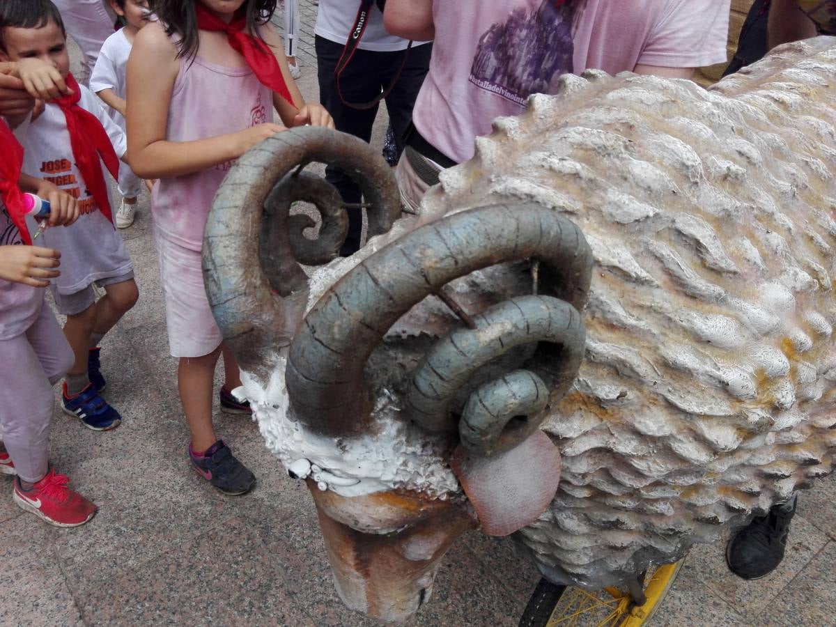
M 259 141 L 284 130 L 280 125 L 261 124 L 205 140 L 166 140 L 178 70 L 177 49 L 159 23 L 150 23 L 137 33 L 128 60 L 127 89 L 127 161 L 136 176 L 152 179 L 200 172 L 237 159 Z

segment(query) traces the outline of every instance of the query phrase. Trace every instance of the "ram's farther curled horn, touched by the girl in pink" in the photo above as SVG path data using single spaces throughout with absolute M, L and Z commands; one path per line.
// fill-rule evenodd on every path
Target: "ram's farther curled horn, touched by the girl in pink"
M 212 312 L 238 364 L 267 380 L 273 365 L 268 355 L 290 344 L 307 303 L 308 277 L 298 262 L 327 261 L 344 237 L 334 187 L 301 172 L 314 161 L 344 171 L 357 183 L 368 206 L 370 237 L 388 231 L 400 215 L 390 167 L 369 144 L 335 130 L 284 131 L 232 167 L 206 222 L 203 276 Z M 323 216 L 319 241 L 303 236 L 312 222 L 289 216 L 297 200 L 318 206 Z

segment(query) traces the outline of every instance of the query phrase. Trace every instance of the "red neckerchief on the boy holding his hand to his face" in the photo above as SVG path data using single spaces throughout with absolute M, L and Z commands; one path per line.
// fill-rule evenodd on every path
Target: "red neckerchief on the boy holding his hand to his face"
M 69 130 L 69 145 L 73 149 L 75 166 L 79 168 L 84 184 L 93 196 L 99 211 L 104 213 L 110 222 L 113 222 L 113 215 L 110 212 L 110 199 L 108 196 L 107 182 L 104 181 L 104 173 L 99 165 L 99 157 L 104 161 L 110 175 L 116 180 L 119 179 L 119 157 L 110 143 L 110 137 L 104 130 L 99 119 L 79 107 L 81 99 L 81 88 L 76 83 L 73 74 L 67 74 L 64 79 L 73 94 L 62 96 L 50 102 L 58 104 L 64 111 L 67 119 L 67 130 Z

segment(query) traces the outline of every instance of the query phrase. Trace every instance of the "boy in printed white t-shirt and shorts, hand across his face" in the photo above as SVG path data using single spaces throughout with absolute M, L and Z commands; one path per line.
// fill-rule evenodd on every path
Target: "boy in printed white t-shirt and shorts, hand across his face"
M 99 99 L 69 74 L 64 27 L 49 0 L 0 3 L 0 59 L 17 61 L 28 92 L 48 100 L 23 138 L 23 171 L 45 176 L 79 200 L 78 222 L 49 229 L 42 242 L 63 254 L 63 271 L 51 289 L 67 316 L 64 335 L 75 363 L 64 377 L 62 406 L 84 426 L 107 431 L 119 426 L 121 416 L 100 395 L 105 381 L 98 344 L 138 294 L 133 265 L 111 222 L 100 160 L 115 174 L 119 160 L 113 144 L 123 155 L 125 135 Z M 93 283 L 105 291 L 98 303 Z

